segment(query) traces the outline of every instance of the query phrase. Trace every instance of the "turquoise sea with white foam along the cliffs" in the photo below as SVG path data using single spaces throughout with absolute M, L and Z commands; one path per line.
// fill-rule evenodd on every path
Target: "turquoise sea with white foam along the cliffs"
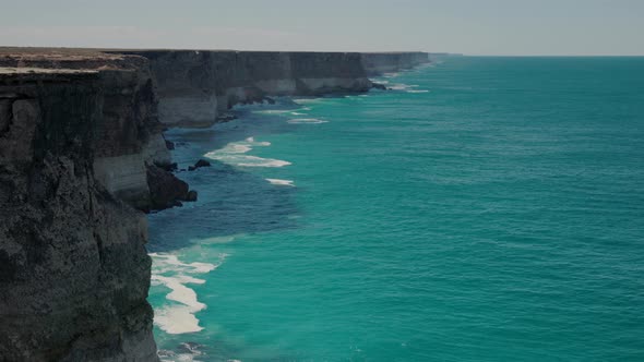
M 644 58 L 382 80 L 169 134 L 213 167 L 150 220 L 164 359 L 643 361 Z

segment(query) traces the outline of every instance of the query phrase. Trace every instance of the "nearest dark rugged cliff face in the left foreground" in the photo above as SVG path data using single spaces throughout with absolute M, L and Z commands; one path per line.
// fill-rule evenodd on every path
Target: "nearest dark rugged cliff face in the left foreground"
M 130 75 L 0 68 L 2 360 L 157 360 L 145 219 L 94 172 Z

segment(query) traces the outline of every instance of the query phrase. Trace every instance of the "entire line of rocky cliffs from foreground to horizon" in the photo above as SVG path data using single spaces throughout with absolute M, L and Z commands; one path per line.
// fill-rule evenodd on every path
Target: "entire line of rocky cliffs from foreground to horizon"
M 142 212 L 196 200 L 163 131 L 361 93 L 427 53 L 0 48 L 0 360 L 156 361 Z M 192 169 L 207 167 L 198 161 Z

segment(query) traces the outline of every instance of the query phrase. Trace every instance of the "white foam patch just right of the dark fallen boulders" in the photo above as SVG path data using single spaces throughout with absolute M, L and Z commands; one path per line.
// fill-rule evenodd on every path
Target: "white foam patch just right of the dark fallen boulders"
M 220 149 L 208 152 L 204 157 L 240 167 L 284 167 L 290 165 L 290 162 L 281 159 L 246 155 L 254 146 L 266 147 L 270 145 L 270 142 L 257 142 L 254 137 L 248 137 L 242 142 L 232 142 Z

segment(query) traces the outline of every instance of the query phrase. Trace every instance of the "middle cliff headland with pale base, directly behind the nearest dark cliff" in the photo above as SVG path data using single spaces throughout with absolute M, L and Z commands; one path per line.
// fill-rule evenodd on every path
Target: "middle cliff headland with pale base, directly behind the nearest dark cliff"
M 171 157 L 158 121 L 147 59 L 76 49 L 10 50 L 0 51 L 0 67 L 100 71 L 103 117 L 95 130 L 94 173 L 108 192 L 142 210 L 165 208 L 174 205 L 175 198 L 188 198 L 187 194 L 178 194 L 166 200 L 152 192 L 157 190 L 157 178 L 150 178 L 151 172 L 157 172 L 157 167 L 167 168 Z M 176 178 L 171 181 L 187 188 Z

